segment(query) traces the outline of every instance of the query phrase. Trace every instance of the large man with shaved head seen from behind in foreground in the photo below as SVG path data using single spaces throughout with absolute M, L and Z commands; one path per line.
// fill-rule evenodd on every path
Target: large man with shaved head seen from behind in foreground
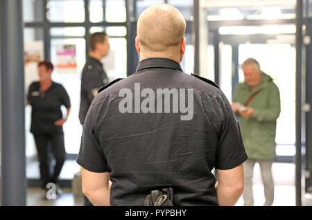
M 173 189 L 173 205 L 234 205 L 241 196 L 247 155 L 239 124 L 214 82 L 182 72 L 185 28 L 173 6 L 144 10 L 137 73 L 94 98 L 77 158 L 94 205 L 145 205 L 164 188 Z

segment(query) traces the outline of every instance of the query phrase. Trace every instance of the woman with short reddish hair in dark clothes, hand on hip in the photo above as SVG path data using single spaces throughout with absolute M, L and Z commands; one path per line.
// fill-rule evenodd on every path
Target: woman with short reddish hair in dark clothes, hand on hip
M 31 104 L 31 133 L 35 138 L 37 154 L 40 163 L 40 177 L 42 189 L 46 190 L 48 183 L 55 183 L 56 193 L 62 191 L 58 185 L 58 176 L 65 161 L 64 132 L 62 126 L 69 117 L 71 102 L 67 91 L 61 84 L 51 80 L 53 64 L 45 60 L 38 64 L 39 82 L 33 82 L 28 89 L 27 103 Z M 66 118 L 63 117 L 61 107 L 67 109 Z M 55 158 L 53 174 L 50 174 L 48 160 L 48 145 Z

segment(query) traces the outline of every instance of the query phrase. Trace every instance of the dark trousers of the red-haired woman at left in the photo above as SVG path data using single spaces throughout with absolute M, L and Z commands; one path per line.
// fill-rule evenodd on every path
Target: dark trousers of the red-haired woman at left
M 42 189 L 45 189 L 46 184 L 56 184 L 58 182 L 58 176 L 60 175 L 66 156 L 64 134 L 34 134 L 34 138 L 39 159 Z M 52 175 L 50 174 L 50 163 L 48 155 L 49 143 L 51 144 L 51 152 L 55 159 L 55 166 L 53 167 L 54 169 Z

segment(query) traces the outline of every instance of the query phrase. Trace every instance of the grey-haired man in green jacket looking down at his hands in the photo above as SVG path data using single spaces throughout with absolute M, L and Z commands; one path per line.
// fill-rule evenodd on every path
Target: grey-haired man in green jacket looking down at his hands
M 266 201 L 274 201 L 272 163 L 275 158 L 276 121 L 281 111 L 279 89 L 272 78 L 261 71 L 256 59 L 248 58 L 242 69 L 245 82 L 236 86 L 232 108 L 239 118 L 241 135 L 248 160 L 243 163 L 245 175 L 244 205 L 254 205 L 252 174 L 259 163 Z

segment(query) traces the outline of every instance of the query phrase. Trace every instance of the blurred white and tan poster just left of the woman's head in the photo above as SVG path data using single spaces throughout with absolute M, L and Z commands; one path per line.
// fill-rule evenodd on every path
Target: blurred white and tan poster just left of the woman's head
M 25 71 L 25 89 L 32 82 L 38 81 L 37 64 L 44 57 L 44 44 L 42 41 L 25 42 L 24 43 L 24 71 Z

